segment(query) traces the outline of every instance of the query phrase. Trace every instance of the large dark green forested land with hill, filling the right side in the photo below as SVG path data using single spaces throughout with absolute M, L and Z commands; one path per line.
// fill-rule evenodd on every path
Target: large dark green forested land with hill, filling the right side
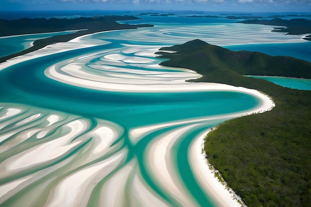
M 259 90 L 276 106 L 228 120 L 205 138 L 206 157 L 248 207 L 311 206 L 311 91 L 245 77 L 311 78 L 311 63 L 257 52 L 233 52 L 194 40 L 161 48 L 161 65 L 197 71 L 192 82 L 217 82 Z

